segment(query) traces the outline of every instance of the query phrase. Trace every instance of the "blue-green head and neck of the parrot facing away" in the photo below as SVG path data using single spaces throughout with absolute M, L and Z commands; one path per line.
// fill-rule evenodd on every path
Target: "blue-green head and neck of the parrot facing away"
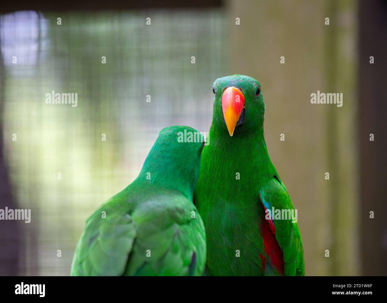
M 192 127 L 163 128 L 137 180 L 179 190 L 192 200 L 203 142 L 203 135 Z

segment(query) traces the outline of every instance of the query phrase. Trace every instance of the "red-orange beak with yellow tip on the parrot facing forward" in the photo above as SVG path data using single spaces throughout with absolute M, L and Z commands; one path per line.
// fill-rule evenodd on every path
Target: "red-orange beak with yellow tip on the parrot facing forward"
M 228 133 L 232 137 L 234 134 L 236 123 L 239 120 L 243 106 L 245 105 L 245 97 L 242 92 L 236 87 L 228 87 L 222 96 L 222 110 L 224 121 L 228 129 Z

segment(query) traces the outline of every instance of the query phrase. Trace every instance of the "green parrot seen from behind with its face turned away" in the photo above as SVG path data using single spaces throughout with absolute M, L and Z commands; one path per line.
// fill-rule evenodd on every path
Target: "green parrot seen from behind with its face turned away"
M 204 142 L 179 140 L 185 131 L 198 133 L 161 130 L 139 176 L 87 219 L 72 276 L 202 275 L 205 230 L 192 196 Z

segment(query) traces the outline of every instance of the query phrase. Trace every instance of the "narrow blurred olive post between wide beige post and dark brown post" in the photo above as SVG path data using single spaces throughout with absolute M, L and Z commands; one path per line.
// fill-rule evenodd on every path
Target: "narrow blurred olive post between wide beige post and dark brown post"
M 356 115 L 356 3 L 329 1 L 325 27 L 326 92 L 343 93 L 342 107 L 327 106 L 328 201 L 333 276 L 359 274 L 358 134 Z

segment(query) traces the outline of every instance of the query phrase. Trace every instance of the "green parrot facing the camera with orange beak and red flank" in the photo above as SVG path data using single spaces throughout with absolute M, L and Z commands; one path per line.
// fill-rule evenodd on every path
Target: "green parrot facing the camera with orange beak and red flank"
M 232 75 L 213 92 L 194 192 L 207 236 L 204 275 L 304 276 L 297 212 L 267 153 L 261 86 Z

